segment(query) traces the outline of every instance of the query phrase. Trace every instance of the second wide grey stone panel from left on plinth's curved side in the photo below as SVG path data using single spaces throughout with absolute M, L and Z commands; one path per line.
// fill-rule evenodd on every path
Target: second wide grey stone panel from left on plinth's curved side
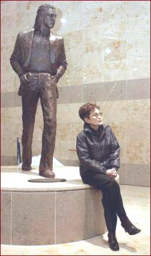
M 77 237 L 79 239 L 89 237 L 93 230 L 91 198 L 91 190 L 56 193 L 56 243 L 68 242 L 71 238 L 74 241 Z M 60 218 L 60 215 L 64 218 Z M 89 222 L 89 229 L 87 229 L 86 222 Z M 79 227 L 81 227 L 80 230 Z

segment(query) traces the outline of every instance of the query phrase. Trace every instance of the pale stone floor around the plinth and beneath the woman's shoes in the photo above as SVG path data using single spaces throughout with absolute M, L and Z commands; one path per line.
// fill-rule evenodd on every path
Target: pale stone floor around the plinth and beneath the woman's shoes
M 116 237 L 120 250 L 111 251 L 107 233 L 84 241 L 47 246 L 1 245 L 1 255 L 150 255 L 150 189 L 120 185 L 125 210 L 141 233 L 129 236 L 118 220 Z

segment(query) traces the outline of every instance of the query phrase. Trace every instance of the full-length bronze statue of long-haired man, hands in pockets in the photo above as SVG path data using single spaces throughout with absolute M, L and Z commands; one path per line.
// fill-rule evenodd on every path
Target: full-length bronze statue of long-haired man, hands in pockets
M 64 39 L 53 35 L 56 10 L 52 5 L 41 5 L 35 25 L 30 31 L 19 32 L 10 63 L 18 74 L 22 96 L 22 170 L 31 170 L 32 136 L 37 102 L 40 97 L 44 129 L 39 175 L 54 178 L 53 152 L 56 139 L 57 82 L 64 74 L 67 62 Z

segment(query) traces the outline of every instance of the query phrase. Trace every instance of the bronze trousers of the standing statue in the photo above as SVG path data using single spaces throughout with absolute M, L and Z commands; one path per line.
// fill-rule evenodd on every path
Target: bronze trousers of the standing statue
M 44 128 L 39 170 L 52 170 L 56 139 L 56 83 L 51 79 L 51 74 L 48 73 L 30 73 L 29 76 L 27 73 L 27 78 L 29 82 L 22 84 L 23 165 L 31 165 L 33 128 L 37 103 L 40 98 Z

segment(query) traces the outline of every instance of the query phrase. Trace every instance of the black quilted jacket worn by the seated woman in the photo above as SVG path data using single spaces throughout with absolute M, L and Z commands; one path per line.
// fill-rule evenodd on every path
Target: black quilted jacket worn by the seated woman
M 77 136 L 77 155 L 82 178 L 86 172 L 106 173 L 107 169 L 120 167 L 120 147 L 109 125 L 100 125 L 96 132 L 89 124 Z

